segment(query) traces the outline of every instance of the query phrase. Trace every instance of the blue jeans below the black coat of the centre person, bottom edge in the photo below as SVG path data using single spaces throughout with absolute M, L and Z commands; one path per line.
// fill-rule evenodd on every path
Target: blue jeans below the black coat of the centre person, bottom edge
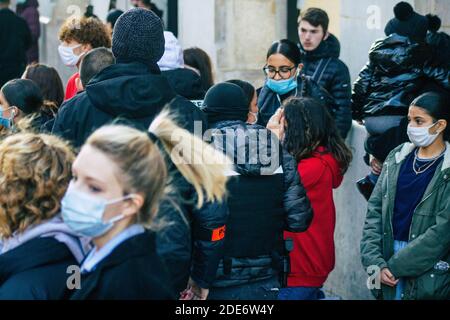
M 277 300 L 280 281 L 278 277 L 232 287 L 214 287 L 208 300 Z

